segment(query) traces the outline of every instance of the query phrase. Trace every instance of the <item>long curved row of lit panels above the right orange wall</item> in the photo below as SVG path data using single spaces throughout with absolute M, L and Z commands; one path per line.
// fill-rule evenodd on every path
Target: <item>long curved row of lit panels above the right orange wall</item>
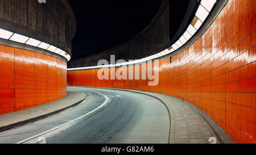
M 187 41 L 189 39 L 191 39 L 191 37 L 193 35 L 195 35 L 197 30 L 199 30 L 199 28 L 202 26 L 202 24 L 204 23 L 204 20 L 209 16 L 209 12 L 212 10 L 215 2 L 216 1 L 214 1 L 214 0 L 201 0 L 200 6 L 197 9 L 196 15 L 195 15 L 195 17 L 198 18 L 199 20 L 197 20 L 195 23 L 193 23 L 193 25 L 192 25 L 192 23 L 189 24 L 187 30 L 183 33 L 183 35 L 181 35 L 181 37 L 179 39 L 177 39 L 176 43 L 171 45 L 171 49 L 168 48 L 162 52 L 157 53 L 156 55 L 142 58 L 140 61 L 135 60 L 135 61 L 130 61 L 130 62 L 122 63 L 122 64 L 123 65 L 137 64 L 140 62 L 150 61 L 150 60 L 153 60 L 154 58 L 161 57 L 160 55 L 166 56 L 169 53 L 172 53 L 172 52 L 176 51 L 177 49 L 179 49 L 180 47 L 182 47 L 185 43 L 187 43 Z M 122 64 L 115 64 L 112 66 L 121 66 Z M 101 67 L 103 67 L 103 68 L 109 67 L 109 65 L 105 65 L 105 66 L 101 66 Z M 82 67 L 82 68 L 68 68 L 67 70 L 82 70 L 82 69 L 92 69 L 92 68 L 101 68 L 101 67 L 100 66 L 91 66 L 91 67 Z

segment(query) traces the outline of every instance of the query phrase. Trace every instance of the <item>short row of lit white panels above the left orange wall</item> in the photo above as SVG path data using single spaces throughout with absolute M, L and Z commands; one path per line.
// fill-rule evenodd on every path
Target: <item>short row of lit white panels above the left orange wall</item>
M 15 41 L 15 42 L 26 44 L 26 45 L 31 45 L 33 47 L 42 48 L 49 52 L 53 52 L 58 55 L 64 56 L 68 61 L 71 60 L 71 56 L 60 48 L 57 48 L 51 44 L 44 43 L 43 41 L 36 40 L 32 37 L 20 35 L 19 33 L 14 33 L 14 32 L 5 30 L 3 28 L 0 28 L 0 38 Z

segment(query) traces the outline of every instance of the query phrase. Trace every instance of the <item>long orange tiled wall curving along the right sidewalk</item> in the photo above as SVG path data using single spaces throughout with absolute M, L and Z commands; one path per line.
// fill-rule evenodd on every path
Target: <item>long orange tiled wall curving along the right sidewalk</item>
M 236 143 L 256 143 L 256 1 L 229 1 L 185 51 L 160 60 L 159 85 L 102 80 L 97 70 L 68 72 L 68 84 L 154 91 L 187 100 Z

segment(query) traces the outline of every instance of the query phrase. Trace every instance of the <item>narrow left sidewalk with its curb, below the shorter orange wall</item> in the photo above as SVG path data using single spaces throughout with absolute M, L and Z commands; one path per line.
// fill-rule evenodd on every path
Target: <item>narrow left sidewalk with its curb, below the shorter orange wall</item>
M 36 119 L 55 114 L 69 107 L 81 103 L 86 95 L 78 91 L 68 91 L 66 97 L 51 103 L 42 104 L 26 110 L 15 111 L 9 114 L 0 115 L 0 131 L 15 127 L 23 123 L 32 122 Z

